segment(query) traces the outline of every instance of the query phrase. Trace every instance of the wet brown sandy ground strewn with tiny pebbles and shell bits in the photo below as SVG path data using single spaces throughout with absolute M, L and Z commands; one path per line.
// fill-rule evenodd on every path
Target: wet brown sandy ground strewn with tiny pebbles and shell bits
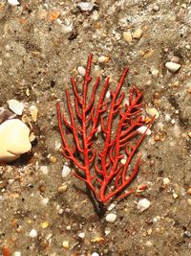
M 9 109 L 11 99 L 25 105 L 20 118 L 33 141 L 32 152 L 0 166 L 1 254 L 191 255 L 191 1 L 97 0 L 87 12 L 79 1 L 19 2 L 0 1 L 0 106 Z M 58 149 L 55 109 L 70 77 L 82 81 L 77 67 L 86 66 L 90 53 L 94 79 L 109 76 L 114 86 L 129 65 L 124 92 L 128 82 L 137 84 L 159 113 L 140 147 L 133 184 L 148 189 L 118 201 L 102 218 L 85 184 L 61 175 L 67 159 Z M 176 73 L 166 68 L 169 61 L 180 64 Z M 140 198 L 151 202 L 142 213 Z M 109 213 L 117 220 L 106 221 Z

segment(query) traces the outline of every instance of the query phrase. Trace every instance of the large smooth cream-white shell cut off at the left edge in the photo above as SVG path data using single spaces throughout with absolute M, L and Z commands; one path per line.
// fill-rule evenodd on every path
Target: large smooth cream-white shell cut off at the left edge
M 18 119 L 8 120 L 0 126 L 0 142 L 0 160 L 11 162 L 31 151 L 30 128 Z

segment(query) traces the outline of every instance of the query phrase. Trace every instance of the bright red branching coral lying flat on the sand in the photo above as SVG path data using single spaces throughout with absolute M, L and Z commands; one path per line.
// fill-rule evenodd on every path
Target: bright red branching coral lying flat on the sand
M 100 78 L 96 79 L 92 88 L 92 58 L 91 54 L 82 93 L 78 92 L 74 78 L 71 79 L 74 100 L 69 90 L 65 91 L 70 121 L 61 113 L 59 103 L 56 107 L 63 155 L 74 163 L 74 175 L 88 185 L 98 202 L 104 204 L 110 199 L 124 198 L 134 192 L 133 189 L 124 190 L 138 175 L 140 154 L 136 162 L 134 158 L 152 121 L 143 134 L 138 133 L 138 128 L 145 121 L 142 116 L 143 94 L 135 86 L 130 88 L 128 104 L 123 104 L 125 94 L 121 92 L 121 87 L 128 67 L 124 69 L 116 90 L 110 90 L 111 100 L 105 100 L 109 78 L 104 82 L 99 99 L 96 100 Z M 63 126 L 71 131 L 73 142 L 67 138 Z M 99 139 L 97 134 L 100 135 Z

